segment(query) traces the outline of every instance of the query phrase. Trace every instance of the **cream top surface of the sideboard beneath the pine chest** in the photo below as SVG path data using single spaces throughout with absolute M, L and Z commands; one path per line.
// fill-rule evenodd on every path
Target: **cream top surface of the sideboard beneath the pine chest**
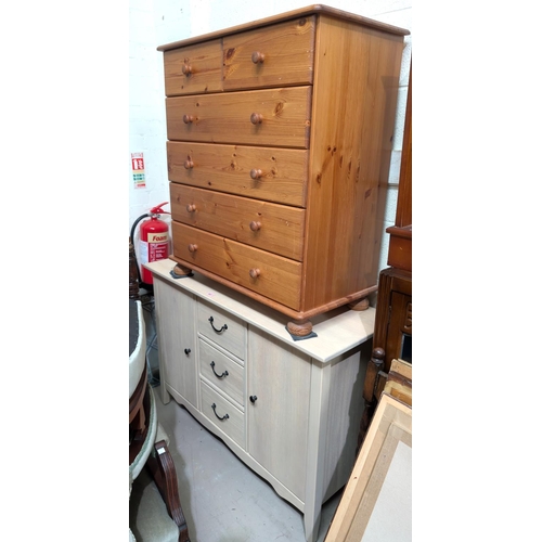
M 175 266 L 176 262 L 170 259 L 144 264 L 155 276 L 225 309 L 249 325 L 269 333 L 323 363 L 334 360 L 373 336 L 375 309 L 370 307 L 364 311 L 354 311 L 345 306 L 311 319 L 312 331 L 317 337 L 294 340 L 286 331 L 287 317 L 284 314 L 199 273 L 173 279 L 170 271 Z

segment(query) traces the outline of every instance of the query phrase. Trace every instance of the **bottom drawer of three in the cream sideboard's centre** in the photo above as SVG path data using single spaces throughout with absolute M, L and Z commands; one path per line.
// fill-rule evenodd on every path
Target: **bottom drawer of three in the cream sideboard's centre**
M 245 447 L 245 414 L 203 380 L 202 413 L 228 437 Z

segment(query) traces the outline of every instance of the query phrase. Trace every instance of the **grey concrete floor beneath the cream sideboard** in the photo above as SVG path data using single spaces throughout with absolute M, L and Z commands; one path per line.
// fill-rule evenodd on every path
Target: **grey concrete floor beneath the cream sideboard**
M 152 314 L 147 320 L 150 371 L 159 378 Z M 302 514 L 247 467 L 219 438 L 175 400 L 164 404 L 153 388 L 158 421 L 169 438 L 191 542 L 305 542 Z M 323 542 L 340 491 L 322 507 Z

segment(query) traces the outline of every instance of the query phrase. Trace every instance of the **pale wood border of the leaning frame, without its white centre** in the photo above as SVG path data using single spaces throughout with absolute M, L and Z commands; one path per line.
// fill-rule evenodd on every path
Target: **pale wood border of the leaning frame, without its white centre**
M 399 442 L 412 448 L 412 409 L 384 392 L 325 542 L 363 540 Z

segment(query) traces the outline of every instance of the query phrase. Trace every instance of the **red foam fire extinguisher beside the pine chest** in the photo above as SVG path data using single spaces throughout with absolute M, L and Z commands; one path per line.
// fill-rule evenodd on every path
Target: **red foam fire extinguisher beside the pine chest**
M 162 208 L 167 203 L 164 202 L 153 207 L 147 215 L 151 218 L 141 223 L 139 262 L 141 264 L 141 282 L 145 284 L 153 284 L 153 274 L 143 267 L 143 263 L 169 257 L 169 225 L 164 220 L 159 220 L 160 215 L 170 215 Z

